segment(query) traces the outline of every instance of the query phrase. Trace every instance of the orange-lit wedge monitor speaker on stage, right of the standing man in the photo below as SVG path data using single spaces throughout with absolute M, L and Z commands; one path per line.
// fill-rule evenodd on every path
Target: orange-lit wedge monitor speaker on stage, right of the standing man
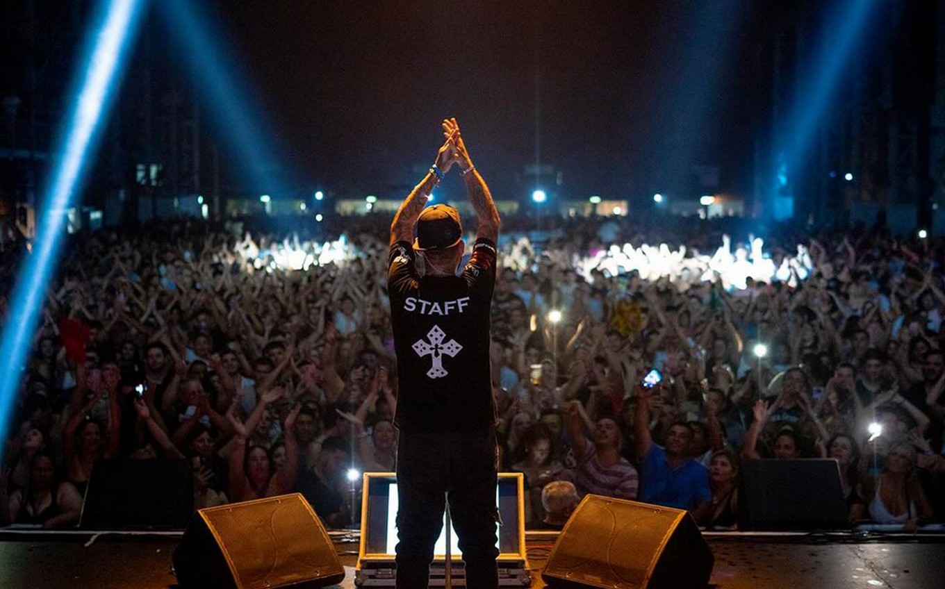
M 689 513 L 588 495 L 561 530 L 541 578 L 549 587 L 701 589 L 714 562 Z

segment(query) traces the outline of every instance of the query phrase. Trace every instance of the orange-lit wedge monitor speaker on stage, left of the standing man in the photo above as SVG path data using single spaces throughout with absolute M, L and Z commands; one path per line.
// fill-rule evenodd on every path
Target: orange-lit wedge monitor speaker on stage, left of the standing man
M 173 564 L 182 588 L 304 589 L 345 577 L 328 533 L 298 493 L 199 510 Z

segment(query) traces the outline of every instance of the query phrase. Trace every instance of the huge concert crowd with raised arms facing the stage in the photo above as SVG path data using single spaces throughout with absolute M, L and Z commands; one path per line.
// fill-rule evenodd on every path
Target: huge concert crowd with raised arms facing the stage
M 355 522 L 349 470 L 397 458 L 390 220 L 332 221 L 71 237 L 4 441 L 0 525 L 76 525 L 109 458 L 189 461 L 198 508 L 297 491 L 328 526 Z M 836 460 L 851 523 L 943 521 L 945 243 L 528 222 L 505 220 L 491 326 L 528 527 L 594 493 L 733 529 L 741 466 L 794 458 Z M 7 244 L 4 328 L 26 259 Z

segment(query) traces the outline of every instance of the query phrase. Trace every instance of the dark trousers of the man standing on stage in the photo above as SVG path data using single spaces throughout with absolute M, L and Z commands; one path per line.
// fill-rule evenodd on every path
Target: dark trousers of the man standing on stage
M 397 587 L 427 586 L 433 549 L 450 515 L 470 589 L 498 587 L 495 432 L 405 433 L 397 446 Z

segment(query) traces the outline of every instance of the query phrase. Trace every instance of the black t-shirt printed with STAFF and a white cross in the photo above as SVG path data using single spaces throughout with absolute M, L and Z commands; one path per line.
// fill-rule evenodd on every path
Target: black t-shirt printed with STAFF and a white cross
M 398 428 L 474 431 L 495 423 L 489 370 L 495 244 L 478 239 L 460 276 L 421 276 L 413 247 L 390 247 L 387 289 L 400 383 Z

